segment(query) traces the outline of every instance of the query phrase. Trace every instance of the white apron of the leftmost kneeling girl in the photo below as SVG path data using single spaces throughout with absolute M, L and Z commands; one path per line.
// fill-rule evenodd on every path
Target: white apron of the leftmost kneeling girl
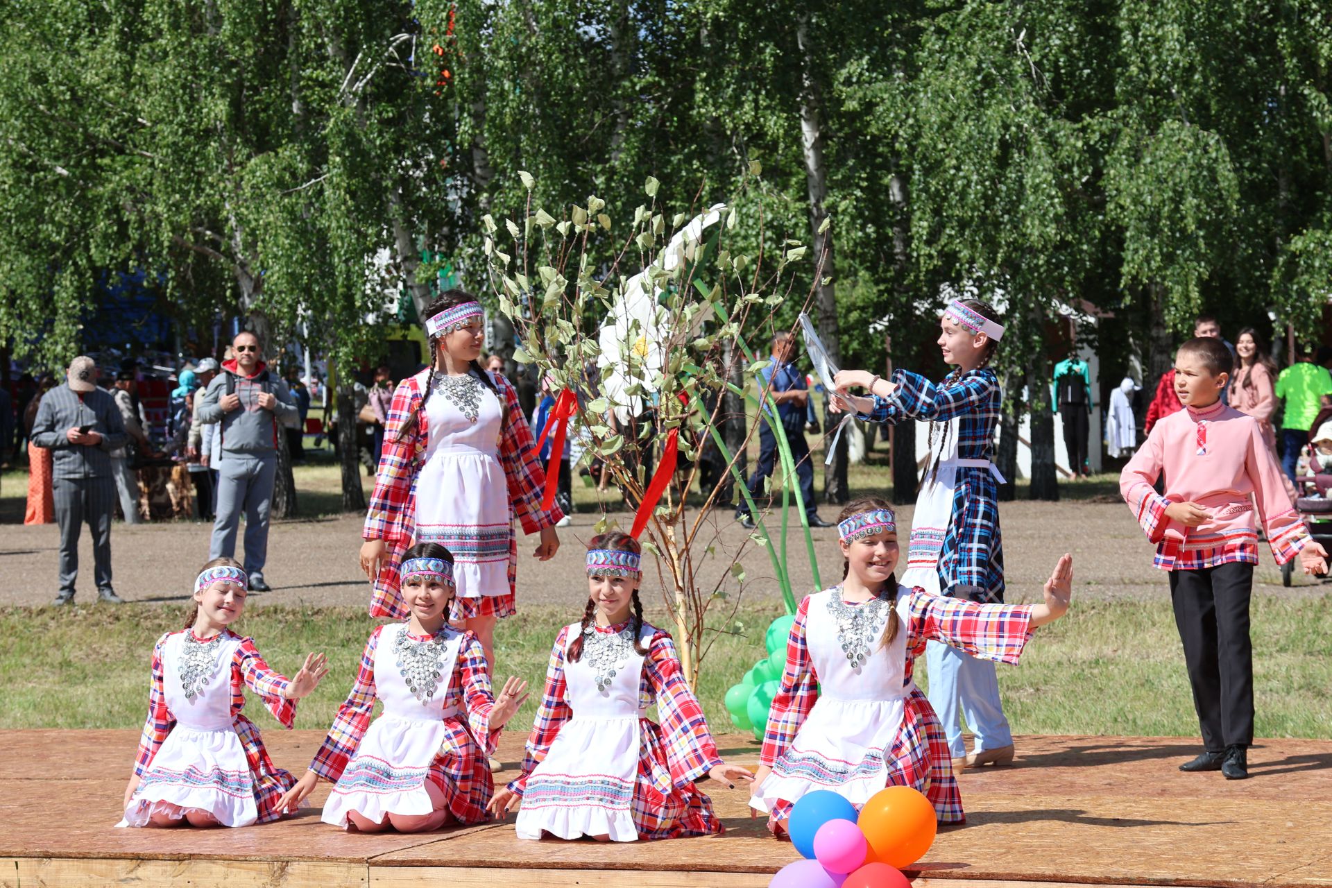
M 159 803 L 196 808 L 225 827 L 258 820 L 254 775 L 232 723 L 232 660 L 241 639 L 222 638 L 213 650 L 208 683 L 190 700 L 181 686 L 181 650 L 189 630 L 163 644 L 163 691 L 176 719 L 135 791 L 117 827 L 143 827 Z

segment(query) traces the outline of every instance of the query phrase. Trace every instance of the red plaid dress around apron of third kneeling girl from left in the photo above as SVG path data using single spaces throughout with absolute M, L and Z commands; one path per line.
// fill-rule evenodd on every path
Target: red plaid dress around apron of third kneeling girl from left
M 613 626 L 619 631 L 626 623 Z M 698 698 L 689 688 L 681 671 L 675 643 L 665 631 L 653 628 L 643 672 L 638 684 L 638 706 L 653 703 L 661 724 L 639 719 L 642 742 L 638 747 L 638 777 L 630 813 L 641 839 L 678 839 L 722 832 L 722 823 L 713 813 L 711 799 L 694 781 L 722 764 L 717 744 L 707 730 Z M 509 788 L 522 796 L 537 763 L 546 758 L 559 727 L 573 718 L 565 702 L 565 648 L 569 627 L 559 630 L 550 650 L 546 687 L 537 707 L 537 718 L 527 736 L 527 754 L 522 774 Z

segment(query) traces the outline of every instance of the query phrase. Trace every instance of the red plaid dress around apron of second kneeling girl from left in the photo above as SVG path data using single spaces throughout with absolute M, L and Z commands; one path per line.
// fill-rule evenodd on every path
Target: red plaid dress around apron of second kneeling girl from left
M 374 650 L 382 630 L 382 626 L 376 626 L 370 632 L 352 691 L 338 707 L 333 727 L 310 762 L 310 771 L 330 783 L 342 776 L 370 727 L 370 714 L 378 699 L 374 694 Z M 500 728 L 490 730 L 494 694 L 485 651 L 472 632 L 464 635 L 444 706 L 466 711 L 468 722 L 464 724 L 456 716 L 444 720 L 448 734 L 428 776 L 444 792 L 448 808 L 458 823 L 484 823 L 489 819 L 486 804 L 494 795 L 494 779 L 486 758 L 496 751 Z

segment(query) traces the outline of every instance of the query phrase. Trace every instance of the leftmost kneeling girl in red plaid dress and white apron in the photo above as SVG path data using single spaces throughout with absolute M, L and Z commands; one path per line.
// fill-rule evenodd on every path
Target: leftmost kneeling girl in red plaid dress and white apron
M 296 700 L 328 674 L 310 654 L 294 678 L 268 667 L 254 642 L 230 630 L 245 610 L 249 576 L 216 558 L 194 580 L 194 615 L 153 647 L 148 722 L 125 787 L 120 827 L 248 827 L 282 815 L 292 775 L 274 768 L 254 723 L 241 715 L 244 690 L 260 695 L 282 727 Z

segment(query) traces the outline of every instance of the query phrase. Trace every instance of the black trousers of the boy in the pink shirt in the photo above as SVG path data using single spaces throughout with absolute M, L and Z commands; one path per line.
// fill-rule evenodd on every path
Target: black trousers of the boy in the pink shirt
M 1173 570 L 1169 595 L 1188 683 L 1212 752 L 1253 742 L 1253 644 L 1248 627 L 1253 564 Z

